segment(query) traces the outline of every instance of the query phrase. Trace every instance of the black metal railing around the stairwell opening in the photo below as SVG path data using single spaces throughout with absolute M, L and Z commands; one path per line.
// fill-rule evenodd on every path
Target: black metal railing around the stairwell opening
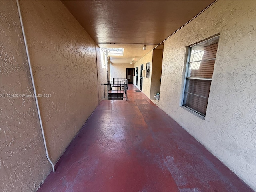
M 127 100 L 128 80 L 124 78 L 113 78 L 107 84 L 101 84 L 102 99 Z

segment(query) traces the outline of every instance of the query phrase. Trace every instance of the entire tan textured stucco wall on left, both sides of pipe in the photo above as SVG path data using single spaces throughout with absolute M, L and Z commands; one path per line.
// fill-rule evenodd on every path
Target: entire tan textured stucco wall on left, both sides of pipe
M 60 1 L 20 1 L 50 158 L 98 105 L 96 44 Z M 1 1 L 1 94 L 32 94 L 16 1 Z M 1 98 L 1 191 L 34 191 L 51 165 L 34 98 Z

